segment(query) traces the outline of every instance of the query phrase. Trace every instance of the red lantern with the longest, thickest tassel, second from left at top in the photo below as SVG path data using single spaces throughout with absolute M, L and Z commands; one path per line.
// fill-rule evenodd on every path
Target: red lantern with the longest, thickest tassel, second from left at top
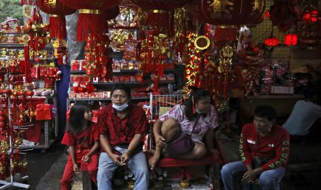
M 77 41 L 84 41 L 88 34 L 99 39 L 107 30 L 106 14 L 114 8 L 120 0 L 61 0 L 66 5 L 79 9 Z

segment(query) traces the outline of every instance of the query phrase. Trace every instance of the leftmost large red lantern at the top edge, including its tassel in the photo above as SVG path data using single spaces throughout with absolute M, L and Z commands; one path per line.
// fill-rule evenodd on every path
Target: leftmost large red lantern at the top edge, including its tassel
M 66 39 L 65 15 L 72 14 L 76 10 L 61 3 L 61 0 L 37 0 L 37 6 L 43 12 L 50 14 L 50 37 Z

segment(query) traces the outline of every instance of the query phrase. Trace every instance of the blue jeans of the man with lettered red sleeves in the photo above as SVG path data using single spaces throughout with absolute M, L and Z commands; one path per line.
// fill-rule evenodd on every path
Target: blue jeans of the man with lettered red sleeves
M 231 162 L 222 167 L 221 175 L 225 190 L 240 189 L 240 186 L 238 185 L 240 182 L 237 181 L 237 173 L 240 171 L 247 171 L 246 166 L 242 161 Z M 284 167 L 263 171 L 259 178 L 261 188 L 263 190 L 280 189 L 280 181 L 284 176 L 284 172 Z M 245 187 L 247 186 L 244 185 L 244 189 Z M 253 187 L 253 189 L 255 189 L 255 185 L 253 185 Z

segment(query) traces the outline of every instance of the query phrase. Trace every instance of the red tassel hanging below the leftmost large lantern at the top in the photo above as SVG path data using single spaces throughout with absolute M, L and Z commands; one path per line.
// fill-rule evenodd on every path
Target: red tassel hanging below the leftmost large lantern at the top
M 66 19 L 64 16 L 50 14 L 50 37 L 56 39 L 66 39 Z

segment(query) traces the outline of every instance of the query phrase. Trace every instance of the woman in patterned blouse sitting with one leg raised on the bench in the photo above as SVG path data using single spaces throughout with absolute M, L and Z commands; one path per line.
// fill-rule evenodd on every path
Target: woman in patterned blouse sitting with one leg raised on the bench
M 148 160 L 150 169 L 155 168 L 162 154 L 173 158 L 196 159 L 204 157 L 208 151 L 216 152 L 213 135 L 218 126 L 217 112 L 211 105 L 211 94 L 204 88 L 192 89 L 188 101 L 172 107 L 155 121 L 153 133 L 156 149 Z M 186 134 L 191 134 L 191 143 L 188 145 L 183 142 Z M 202 142 L 204 136 L 205 144 Z M 182 142 L 182 145 L 177 145 L 177 142 Z

